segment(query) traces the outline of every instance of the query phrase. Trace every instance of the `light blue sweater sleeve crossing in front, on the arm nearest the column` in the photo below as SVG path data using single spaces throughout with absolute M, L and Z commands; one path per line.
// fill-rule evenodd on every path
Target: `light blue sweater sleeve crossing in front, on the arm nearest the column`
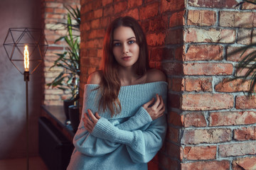
M 161 149 L 166 135 L 166 115 L 153 120 L 146 130 L 120 130 L 110 121 L 100 118 L 92 135 L 126 145 L 133 162 L 149 162 Z

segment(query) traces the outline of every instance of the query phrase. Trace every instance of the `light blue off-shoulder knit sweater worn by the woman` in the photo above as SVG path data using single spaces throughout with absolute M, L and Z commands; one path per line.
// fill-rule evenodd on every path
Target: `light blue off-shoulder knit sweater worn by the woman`
M 145 170 L 161 148 L 166 135 L 166 115 L 152 120 L 142 107 L 159 94 L 166 104 L 167 83 L 121 86 L 121 113 L 111 117 L 110 111 L 99 112 L 100 90 L 97 84 L 85 85 L 82 113 L 90 109 L 101 118 L 92 132 L 84 128 L 82 118 L 73 144 L 75 149 L 68 170 Z M 96 89 L 96 90 L 95 90 Z

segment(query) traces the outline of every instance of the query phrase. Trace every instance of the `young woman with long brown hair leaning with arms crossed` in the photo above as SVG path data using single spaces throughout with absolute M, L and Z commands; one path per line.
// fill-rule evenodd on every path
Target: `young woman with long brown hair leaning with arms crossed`
M 167 83 L 149 69 L 146 38 L 131 17 L 107 29 L 100 71 L 85 85 L 68 170 L 144 170 L 166 135 Z

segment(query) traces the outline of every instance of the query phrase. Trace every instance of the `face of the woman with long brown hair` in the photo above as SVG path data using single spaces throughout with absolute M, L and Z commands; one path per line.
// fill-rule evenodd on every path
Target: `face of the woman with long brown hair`
M 113 54 L 122 67 L 132 67 L 139 58 L 139 45 L 132 28 L 120 26 L 114 29 Z

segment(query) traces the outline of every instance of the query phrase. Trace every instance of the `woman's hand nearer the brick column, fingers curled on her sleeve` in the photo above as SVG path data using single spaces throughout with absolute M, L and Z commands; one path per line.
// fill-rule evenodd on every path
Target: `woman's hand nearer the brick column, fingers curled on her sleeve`
M 145 103 L 142 107 L 149 113 L 152 120 L 155 120 L 162 115 L 164 115 L 164 101 L 159 94 L 156 94 L 156 101 L 155 98 L 152 98 L 149 102 Z M 151 107 L 149 107 L 151 106 Z

